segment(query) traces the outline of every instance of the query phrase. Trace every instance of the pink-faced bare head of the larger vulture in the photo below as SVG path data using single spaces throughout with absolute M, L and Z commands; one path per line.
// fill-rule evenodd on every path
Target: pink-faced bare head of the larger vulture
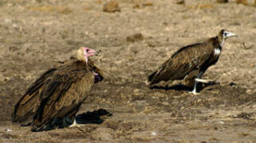
M 88 64 L 89 56 L 97 56 L 98 52 L 96 52 L 92 48 L 81 47 L 77 51 L 77 60 L 85 61 Z

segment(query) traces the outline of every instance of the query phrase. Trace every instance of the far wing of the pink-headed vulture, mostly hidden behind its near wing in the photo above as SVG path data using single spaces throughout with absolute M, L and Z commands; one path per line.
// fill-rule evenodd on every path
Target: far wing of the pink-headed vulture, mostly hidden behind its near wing
M 45 83 L 45 79 L 50 75 L 53 75 L 56 70 L 57 68 L 49 69 L 49 71 L 45 72 L 39 79 L 30 85 L 26 94 L 23 95 L 22 99 L 20 99 L 14 106 L 14 113 L 11 116 L 12 122 L 23 122 L 33 116 L 40 103 L 39 89 Z

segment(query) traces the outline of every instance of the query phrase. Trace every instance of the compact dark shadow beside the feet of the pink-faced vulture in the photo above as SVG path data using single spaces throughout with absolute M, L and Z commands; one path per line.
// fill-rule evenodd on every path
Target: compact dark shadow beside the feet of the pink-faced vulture
M 107 110 L 99 109 L 93 110 L 93 112 L 85 112 L 83 114 L 78 114 L 76 116 L 76 122 L 78 124 L 101 124 L 104 122 L 104 119 L 100 118 L 101 116 L 112 116 Z

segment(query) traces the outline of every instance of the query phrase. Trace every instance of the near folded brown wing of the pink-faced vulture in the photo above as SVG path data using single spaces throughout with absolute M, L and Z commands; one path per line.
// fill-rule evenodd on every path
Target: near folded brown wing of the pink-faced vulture
M 94 84 L 93 72 L 56 72 L 41 88 L 41 105 L 33 118 L 32 130 L 43 129 L 53 118 L 63 118 L 81 105 Z

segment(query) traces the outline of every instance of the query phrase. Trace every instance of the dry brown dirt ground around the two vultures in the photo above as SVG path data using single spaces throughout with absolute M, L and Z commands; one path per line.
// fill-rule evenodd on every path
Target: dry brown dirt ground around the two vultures
M 0 2 L 1 142 L 255 142 L 256 7 L 230 0 L 104 0 Z M 228 29 L 219 62 L 200 95 L 181 82 L 149 89 L 144 81 L 180 47 Z M 137 37 L 132 38 L 136 34 Z M 32 133 L 10 122 L 14 104 L 47 69 L 69 63 L 80 46 L 105 75 L 79 114 L 104 109 L 101 123 Z

